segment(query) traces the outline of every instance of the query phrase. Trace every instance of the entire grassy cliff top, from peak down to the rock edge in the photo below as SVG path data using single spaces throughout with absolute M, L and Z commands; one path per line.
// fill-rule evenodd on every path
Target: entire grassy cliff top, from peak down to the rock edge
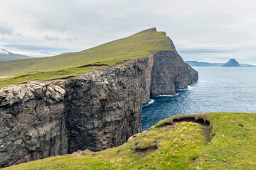
M 146 57 L 151 52 L 174 50 L 170 46 L 170 42 L 171 40 L 164 32 L 157 32 L 156 28 L 151 28 L 127 38 L 107 42 L 80 52 L 0 62 L 0 77 L 14 76 L 0 79 L 0 88 L 31 80 L 50 80 L 76 76 L 93 69 L 90 66 L 81 67 L 83 65 L 105 64 L 111 66 L 124 60 Z M 102 69 L 102 67 L 99 69 Z

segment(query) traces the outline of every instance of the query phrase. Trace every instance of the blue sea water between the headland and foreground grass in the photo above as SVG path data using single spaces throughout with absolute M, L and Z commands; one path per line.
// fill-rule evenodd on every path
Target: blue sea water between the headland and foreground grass
M 171 115 L 256 112 L 256 67 L 194 67 L 198 81 L 177 96 L 151 97 L 142 108 L 142 130 Z

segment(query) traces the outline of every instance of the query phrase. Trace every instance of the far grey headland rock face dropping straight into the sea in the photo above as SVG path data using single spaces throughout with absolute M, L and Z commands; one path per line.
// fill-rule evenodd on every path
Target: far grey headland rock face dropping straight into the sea
M 150 96 L 174 95 L 198 80 L 198 72 L 173 51 L 160 51 L 145 58 L 144 104 Z M 149 83 L 150 82 L 150 83 Z

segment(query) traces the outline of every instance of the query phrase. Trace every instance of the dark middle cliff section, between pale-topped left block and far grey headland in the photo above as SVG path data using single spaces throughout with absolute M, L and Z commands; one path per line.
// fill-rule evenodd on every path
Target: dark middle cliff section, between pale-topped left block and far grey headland
M 68 152 L 122 145 L 142 131 L 144 62 L 92 72 L 70 81 L 65 111 Z

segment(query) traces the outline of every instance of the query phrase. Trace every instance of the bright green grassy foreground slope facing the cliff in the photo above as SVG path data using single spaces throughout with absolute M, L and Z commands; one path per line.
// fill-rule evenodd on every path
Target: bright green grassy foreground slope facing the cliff
M 210 121 L 210 139 L 198 123 Z M 80 151 L 7 169 L 256 169 L 256 113 L 176 115 L 131 142 L 102 152 Z M 240 124 L 240 125 L 239 125 Z M 243 126 L 242 126 L 243 125 Z

